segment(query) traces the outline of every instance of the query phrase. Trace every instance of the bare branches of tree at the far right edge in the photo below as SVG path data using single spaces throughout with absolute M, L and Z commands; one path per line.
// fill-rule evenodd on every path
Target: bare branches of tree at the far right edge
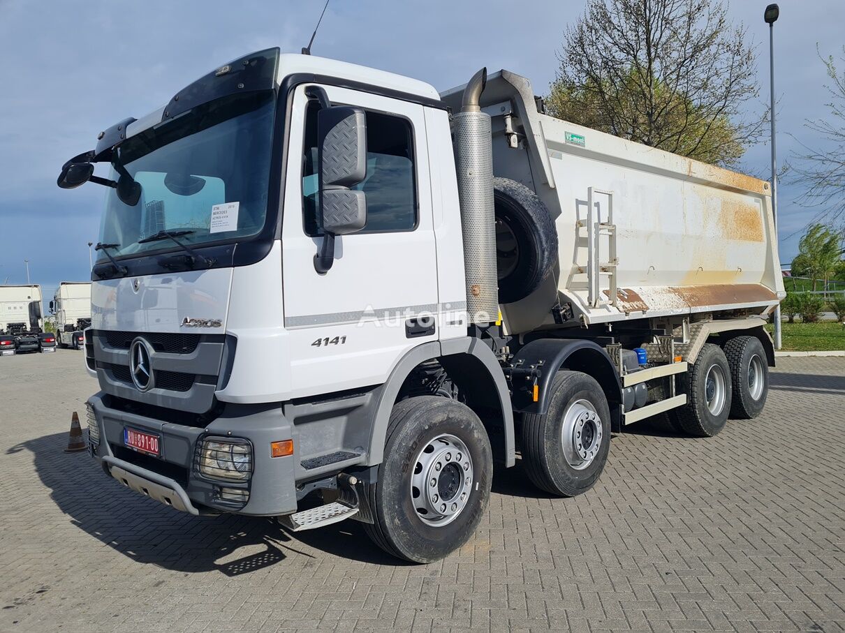
M 830 116 L 807 120 L 804 127 L 819 134 L 826 141 L 826 148 L 811 149 L 804 145 L 806 153 L 796 157 L 792 168 L 795 179 L 807 187 L 799 202 L 820 207 L 813 222 L 826 221 L 842 227 L 845 225 L 845 46 L 839 60 L 842 73 L 832 55 L 821 57 L 821 61 L 831 81 L 825 86 L 831 99 L 826 103 Z

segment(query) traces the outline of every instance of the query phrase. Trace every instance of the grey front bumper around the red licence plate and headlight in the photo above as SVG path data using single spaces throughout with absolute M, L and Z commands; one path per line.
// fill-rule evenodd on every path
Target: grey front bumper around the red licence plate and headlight
M 106 473 L 141 494 L 191 514 L 235 512 L 272 517 L 297 509 L 294 456 L 270 457 L 270 442 L 292 439 L 292 425 L 278 405 L 228 405 L 204 427 L 164 422 L 108 406 L 100 392 L 88 402 L 100 430 L 90 453 Z M 123 444 L 123 429 L 161 437 L 161 457 L 150 457 Z M 253 446 L 253 472 L 247 482 L 210 479 L 199 473 L 197 446 L 205 436 L 243 438 Z M 248 500 L 221 498 L 222 489 L 248 491 Z

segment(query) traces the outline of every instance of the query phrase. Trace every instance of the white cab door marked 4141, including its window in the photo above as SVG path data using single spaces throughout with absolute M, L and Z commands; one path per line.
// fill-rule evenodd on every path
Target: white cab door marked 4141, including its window
M 314 84 L 316 85 L 316 84 Z M 367 119 L 362 230 L 335 236 L 327 273 L 316 203 L 319 102 L 293 96 L 282 223 L 292 397 L 384 382 L 408 349 L 437 339 L 438 281 L 423 106 L 322 85 L 333 106 Z M 422 321 L 419 321 L 422 319 Z M 422 322 L 423 325 L 419 325 Z

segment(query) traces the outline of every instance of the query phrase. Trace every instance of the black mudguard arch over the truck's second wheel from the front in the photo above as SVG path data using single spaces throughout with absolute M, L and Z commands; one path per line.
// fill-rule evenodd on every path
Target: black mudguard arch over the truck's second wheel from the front
M 581 371 L 596 379 L 610 408 L 610 424 L 615 432 L 622 427 L 622 383 L 608 353 L 596 343 L 577 338 L 537 338 L 523 346 L 514 357 L 514 365 L 538 372 L 537 401 L 533 400 L 533 381 L 514 388 L 514 409 L 524 414 L 545 414 L 552 381 L 559 370 Z M 515 377 L 515 382 L 519 379 Z

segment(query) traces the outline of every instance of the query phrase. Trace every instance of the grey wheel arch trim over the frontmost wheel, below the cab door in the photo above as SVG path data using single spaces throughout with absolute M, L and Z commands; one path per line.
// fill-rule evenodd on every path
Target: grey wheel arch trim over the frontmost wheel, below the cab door
M 430 342 L 407 352 L 380 389 L 370 436 L 369 465 L 381 463 L 392 410 L 406 378 L 421 363 L 438 360 L 455 384 L 467 393 L 468 406 L 482 420 L 493 448 L 493 459 L 515 463 L 514 415 L 504 373 L 493 351 L 477 338 Z

